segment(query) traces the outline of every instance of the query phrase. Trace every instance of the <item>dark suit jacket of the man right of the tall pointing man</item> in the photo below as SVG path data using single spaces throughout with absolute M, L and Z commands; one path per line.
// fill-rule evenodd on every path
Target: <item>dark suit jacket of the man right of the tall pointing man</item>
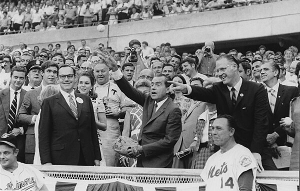
M 293 86 L 285 86 L 279 84 L 274 113 L 272 113 L 271 107 L 268 104 L 267 116 L 269 119 L 268 134 L 276 132 L 280 137 L 277 138 L 276 143 L 278 146 L 285 145 L 286 133 L 280 127 L 279 121 L 281 118 L 288 117 L 289 115 L 289 103 L 298 96 L 298 89 Z

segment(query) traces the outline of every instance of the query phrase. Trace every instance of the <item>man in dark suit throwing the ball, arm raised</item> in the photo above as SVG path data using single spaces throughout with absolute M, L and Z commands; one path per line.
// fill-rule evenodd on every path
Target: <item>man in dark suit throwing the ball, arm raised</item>
M 170 77 L 155 76 L 150 95 L 144 95 L 127 82 L 111 56 L 106 56 L 106 59 L 120 90 L 144 108 L 138 136 L 138 153 L 141 155 L 137 158 L 137 167 L 171 168 L 174 145 L 181 133 L 181 111 L 168 97 L 167 80 Z M 132 150 L 128 152 L 132 153 Z

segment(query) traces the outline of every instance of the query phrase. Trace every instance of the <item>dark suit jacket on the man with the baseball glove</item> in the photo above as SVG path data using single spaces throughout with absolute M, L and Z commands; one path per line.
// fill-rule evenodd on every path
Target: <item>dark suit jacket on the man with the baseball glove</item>
M 143 106 L 138 137 L 143 154 L 137 160 L 143 167 L 171 167 L 174 145 L 181 132 L 180 109 L 168 98 L 152 116 L 154 100 L 150 95 L 133 88 L 124 76 L 115 82 L 128 98 Z

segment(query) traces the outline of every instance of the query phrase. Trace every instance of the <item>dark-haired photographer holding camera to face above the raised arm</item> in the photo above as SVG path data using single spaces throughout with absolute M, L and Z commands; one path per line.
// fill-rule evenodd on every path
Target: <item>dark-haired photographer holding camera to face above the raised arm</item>
M 129 47 L 125 50 L 125 56 L 122 59 L 120 65 L 123 66 L 124 63 L 130 62 L 134 66 L 133 81 L 138 79 L 141 70 L 146 69 L 146 60 L 142 58 L 140 42 L 138 40 L 130 40 L 128 43 Z

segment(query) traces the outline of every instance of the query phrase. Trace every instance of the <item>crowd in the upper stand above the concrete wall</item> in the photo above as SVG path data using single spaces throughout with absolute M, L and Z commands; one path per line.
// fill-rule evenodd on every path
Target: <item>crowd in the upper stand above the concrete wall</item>
M 175 16 L 277 0 L 4 0 L 0 34 Z

